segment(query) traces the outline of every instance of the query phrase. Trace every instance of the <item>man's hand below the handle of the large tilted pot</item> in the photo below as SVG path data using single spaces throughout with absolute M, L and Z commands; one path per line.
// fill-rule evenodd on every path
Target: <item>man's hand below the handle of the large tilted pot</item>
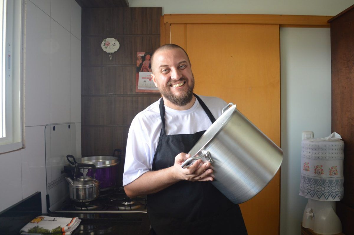
M 210 163 L 201 164 L 201 160 L 196 160 L 188 168 L 183 169 L 182 163 L 190 157 L 190 154 L 180 153 L 175 157 L 175 165 L 173 168 L 176 177 L 180 180 L 188 181 L 212 181 L 214 178 L 211 176 L 213 170 L 210 168 Z

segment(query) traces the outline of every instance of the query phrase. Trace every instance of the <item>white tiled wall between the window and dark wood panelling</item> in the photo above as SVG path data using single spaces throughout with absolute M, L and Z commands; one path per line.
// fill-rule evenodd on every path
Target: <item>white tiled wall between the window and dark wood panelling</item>
M 0 211 L 42 193 L 46 212 L 45 125 L 74 122 L 81 156 L 81 7 L 75 0 L 27 0 L 26 148 L 0 158 Z

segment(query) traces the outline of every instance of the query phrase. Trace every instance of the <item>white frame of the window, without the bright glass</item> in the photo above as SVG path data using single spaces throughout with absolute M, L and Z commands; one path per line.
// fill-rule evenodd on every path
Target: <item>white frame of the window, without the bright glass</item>
M 27 0 L 1 1 L 5 2 L 4 5 L 6 5 L 6 40 L 5 43 L 1 45 L 3 50 L 1 57 L 5 60 L 5 63 L 2 63 L 2 65 L 5 65 L 5 67 L 2 67 L 2 70 L 5 70 L 5 73 L 1 71 L 1 81 L 3 81 L 3 75 L 5 74 L 6 136 L 0 138 L 0 154 L 25 147 L 24 38 L 27 5 Z

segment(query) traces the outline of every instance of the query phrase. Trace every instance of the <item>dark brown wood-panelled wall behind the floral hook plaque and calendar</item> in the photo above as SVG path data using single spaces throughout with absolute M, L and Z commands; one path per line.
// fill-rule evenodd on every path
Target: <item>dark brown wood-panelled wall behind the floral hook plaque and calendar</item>
M 160 98 L 136 93 L 136 53 L 160 46 L 161 7 L 82 8 L 81 19 L 81 152 L 82 157 L 123 150 L 124 168 L 130 123 Z M 120 48 L 104 52 L 101 43 L 114 37 Z

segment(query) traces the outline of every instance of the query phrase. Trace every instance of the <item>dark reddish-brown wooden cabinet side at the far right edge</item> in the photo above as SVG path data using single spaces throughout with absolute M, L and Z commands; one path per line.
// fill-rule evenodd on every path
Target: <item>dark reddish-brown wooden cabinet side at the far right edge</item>
M 331 23 L 332 131 L 344 141 L 344 198 L 337 214 L 344 234 L 354 234 L 354 5 Z

